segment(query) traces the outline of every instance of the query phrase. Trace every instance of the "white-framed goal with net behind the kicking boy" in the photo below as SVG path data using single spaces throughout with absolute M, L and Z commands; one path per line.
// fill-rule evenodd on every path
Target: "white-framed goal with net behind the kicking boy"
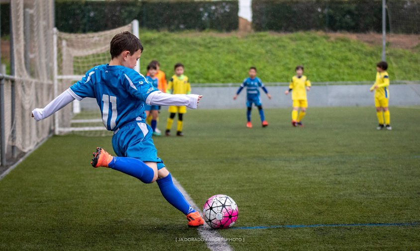
M 130 31 L 138 37 L 138 21 L 112 30 L 95 33 L 65 33 L 54 29 L 54 94 L 57 96 L 70 85 L 79 81 L 92 67 L 109 63 L 109 42 L 123 31 Z M 139 71 L 139 63 L 135 70 Z M 91 98 L 73 101 L 72 106 L 60 110 L 54 120 L 55 133 L 84 133 L 84 135 L 108 135 L 98 112 L 81 112 L 83 107 L 94 107 L 96 100 Z M 92 111 L 92 109 L 90 109 Z M 93 132 L 95 131 L 95 132 Z

